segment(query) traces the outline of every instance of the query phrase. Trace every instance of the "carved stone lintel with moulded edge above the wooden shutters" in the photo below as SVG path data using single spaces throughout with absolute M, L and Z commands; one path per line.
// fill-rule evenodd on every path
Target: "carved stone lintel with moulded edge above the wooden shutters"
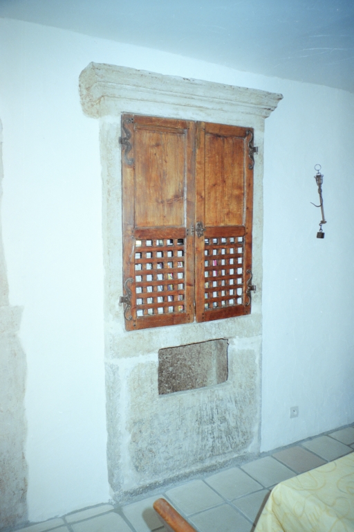
M 145 108 L 158 105 L 162 116 L 166 116 L 165 109 L 174 105 L 182 113 L 181 116 L 194 108 L 198 112 L 205 110 L 207 116 L 213 109 L 225 116 L 240 112 L 243 116 L 266 118 L 283 98 L 281 94 L 258 89 L 100 63 L 90 63 L 82 71 L 80 95 L 84 112 L 96 118 L 107 114 L 118 115 L 122 109 L 127 112 L 136 109 L 135 112 L 141 113 L 142 102 Z M 216 121 L 223 120 L 221 114 L 218 118 L 214 117 Z

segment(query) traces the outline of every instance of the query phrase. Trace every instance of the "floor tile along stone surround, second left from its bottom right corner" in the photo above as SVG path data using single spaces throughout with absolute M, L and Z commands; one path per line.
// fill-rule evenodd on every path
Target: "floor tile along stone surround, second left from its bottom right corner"
M 252 491 L 261 490 L 263 486 L 251 479 L 244 471 L 239 468 L 231 468 L 220 473 L 216 473 L 205 479 L 205 482 L 212 486 L 214 490 L 220 493 L 225 499 L 236 499 L 242 495 L 252 493 Z

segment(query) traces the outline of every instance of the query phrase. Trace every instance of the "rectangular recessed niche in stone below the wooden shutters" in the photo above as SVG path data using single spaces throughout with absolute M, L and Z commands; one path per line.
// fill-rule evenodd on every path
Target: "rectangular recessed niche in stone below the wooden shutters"
M 158 393 L 193 390 L 227 380 L 227 340 L 209 340 L 158 352 Z

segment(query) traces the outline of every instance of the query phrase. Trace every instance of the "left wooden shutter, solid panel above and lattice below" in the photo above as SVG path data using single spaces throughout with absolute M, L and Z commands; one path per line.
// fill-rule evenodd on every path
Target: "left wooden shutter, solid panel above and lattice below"
M 194 320 L 194 140 L 190 121 L 122 115 L 127 330 Z M 125 295 L 125 294 L 124 294 Z

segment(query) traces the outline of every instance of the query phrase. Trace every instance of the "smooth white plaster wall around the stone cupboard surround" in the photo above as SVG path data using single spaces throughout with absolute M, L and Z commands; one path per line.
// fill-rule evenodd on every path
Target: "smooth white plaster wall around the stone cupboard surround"
M 30 520 L 109 499 L 98 123 L 78 96 L 91 61 L 283 94 L 265 121 L 262 449 L 352 422 L 354 95 L 21 21 L 0 19 L 0 46 L 3 239 L 10 304 L 24 305 Z M 315 163 L 324 240 L 310 205 Z

